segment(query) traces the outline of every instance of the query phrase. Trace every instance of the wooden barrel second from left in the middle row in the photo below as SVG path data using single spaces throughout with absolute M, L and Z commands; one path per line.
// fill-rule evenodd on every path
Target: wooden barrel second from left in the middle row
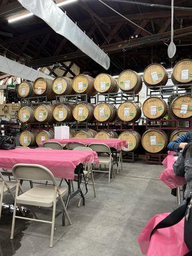
M 35 109 L 35 119 L 38 122 L 49 122 L 51 123 L 53 121 L 53 116 L 52 116 L 52 109 L 54 106 L 52 105 L 39 105 Z

